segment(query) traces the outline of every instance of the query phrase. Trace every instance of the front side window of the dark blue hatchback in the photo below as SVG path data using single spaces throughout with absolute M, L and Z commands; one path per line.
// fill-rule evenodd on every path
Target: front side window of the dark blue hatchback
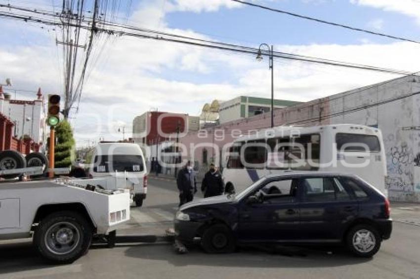
M 290 203 L 294 202 L 297 195 L 297 180 L 273 180 L 259 189 L 264 194 L 264 202 Z

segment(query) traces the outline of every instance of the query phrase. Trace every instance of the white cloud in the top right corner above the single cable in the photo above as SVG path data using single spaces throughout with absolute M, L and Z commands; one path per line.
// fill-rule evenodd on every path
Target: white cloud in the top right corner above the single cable
M 414 17 L 420 23 L 420 2 L 418 0 L 350 0 L 350 2 L 385 11 L 402 13 Z

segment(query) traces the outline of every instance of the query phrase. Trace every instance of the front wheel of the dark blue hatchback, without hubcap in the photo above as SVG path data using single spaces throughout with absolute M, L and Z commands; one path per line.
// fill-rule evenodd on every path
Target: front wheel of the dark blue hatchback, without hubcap
M 232 253 L 235 251 L 235 239 L 232 231 L 223 224 L 209 227 L 203 234 L 201 245 L 207 253 Z

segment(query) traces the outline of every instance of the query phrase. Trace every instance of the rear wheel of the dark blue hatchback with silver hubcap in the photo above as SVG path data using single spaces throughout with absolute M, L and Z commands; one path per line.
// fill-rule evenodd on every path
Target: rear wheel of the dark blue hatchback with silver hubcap
M 371 225 L 356 225 L 347 233 L 347 247 L 358 257 L 370 258 L 380 248 L 380 236 L 378 230 Z

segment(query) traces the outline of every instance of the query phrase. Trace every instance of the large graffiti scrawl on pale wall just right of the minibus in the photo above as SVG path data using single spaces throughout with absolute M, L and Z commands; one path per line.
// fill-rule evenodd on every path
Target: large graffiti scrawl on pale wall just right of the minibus
M 387 188 L 399 191 L 414 191 L 414 177 L 412 172 L 413 164 L 416 158 L 420 164 L 420 156 L 413 157 L 411 148 L 406 142 L 402 142 L 400 146 L 392 146 L 388 160 L 388 179 L 386 181 Z M 420 166 L 420 165 L 419 165 Z

